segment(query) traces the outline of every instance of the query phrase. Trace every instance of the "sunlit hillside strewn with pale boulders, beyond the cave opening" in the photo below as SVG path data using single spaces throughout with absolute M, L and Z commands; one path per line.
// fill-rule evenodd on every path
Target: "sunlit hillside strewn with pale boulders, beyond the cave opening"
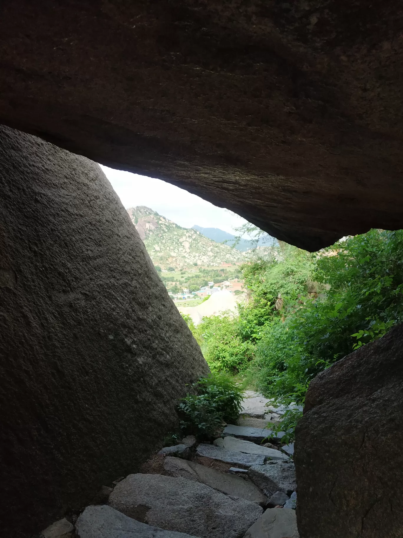
M 145 207 L 131 207 L 127 213 L 153 260 L 162 269 L 198 265 L 219 266 L 241 263 L 244 254 L 228 245 L 216 243 L 191 228 L 182 228 Z

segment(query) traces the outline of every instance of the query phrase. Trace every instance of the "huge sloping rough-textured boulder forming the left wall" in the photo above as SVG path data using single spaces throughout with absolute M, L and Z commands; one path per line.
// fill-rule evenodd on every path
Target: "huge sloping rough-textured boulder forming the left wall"
M 97 164 L 1 128 L 0 189 L 0 520 L 14 537 L 136 470 L 207 366 Z

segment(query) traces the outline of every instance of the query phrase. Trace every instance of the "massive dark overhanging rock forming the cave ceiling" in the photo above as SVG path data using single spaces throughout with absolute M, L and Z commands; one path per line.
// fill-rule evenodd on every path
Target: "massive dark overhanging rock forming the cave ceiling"
M 395 1 L 3 6 L 0 121 L 308 249 L 403 228 Z

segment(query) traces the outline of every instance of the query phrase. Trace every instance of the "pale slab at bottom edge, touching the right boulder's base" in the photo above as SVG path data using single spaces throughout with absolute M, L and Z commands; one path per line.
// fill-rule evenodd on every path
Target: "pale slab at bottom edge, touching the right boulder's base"
M 269 508 L 247 530 L 244 538 L 299 538 L 295 511 Z

